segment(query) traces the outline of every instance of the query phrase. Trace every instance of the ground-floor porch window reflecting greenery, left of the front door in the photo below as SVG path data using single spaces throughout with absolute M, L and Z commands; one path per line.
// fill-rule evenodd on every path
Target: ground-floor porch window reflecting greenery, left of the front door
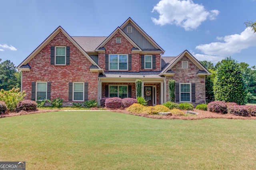
M 127 85 L 109 85 L 109 97 L 120 97 L 122 99 L 128 96 Z

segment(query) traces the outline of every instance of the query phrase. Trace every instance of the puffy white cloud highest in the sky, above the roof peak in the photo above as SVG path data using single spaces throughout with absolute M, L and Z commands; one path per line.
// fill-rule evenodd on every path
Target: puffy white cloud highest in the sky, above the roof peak
M 185 30 L 196 29 L 208 18 L 214 20 L 219 14 L 218 10 L 207 11 L 202 4 L 192 0 L 160 0 L 154 11 L 160 14 L 159 19 L 151 18 L 155 24 L 176 24 Z

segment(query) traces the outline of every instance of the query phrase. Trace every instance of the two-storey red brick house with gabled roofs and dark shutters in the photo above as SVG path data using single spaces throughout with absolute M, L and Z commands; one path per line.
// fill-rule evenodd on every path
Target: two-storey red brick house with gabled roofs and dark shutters
M 169 100 L 168 80 L 174 79 L 177 103 L 205 103 L 210 72 L 187 50 L 177 57 L 161 57 L 164 52 L 128 18 L 108 37 L 71 37 L 58 27 L 17 68 L 31 100 L 136 98 L 140 79 L 148 105 L 157 105 Z

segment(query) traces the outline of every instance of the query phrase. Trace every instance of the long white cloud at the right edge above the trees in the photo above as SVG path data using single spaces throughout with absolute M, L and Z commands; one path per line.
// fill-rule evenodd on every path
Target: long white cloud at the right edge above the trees
M 219 42 L 200 44 L 196 49 L 203 54 L 193 54 L 198 60 L 212 62 L 221 61 L 225 57 L 240 53 L 243 49 L 256 46 L 256 34 L 246 28 L 241 34 L 228 35 L 216 38 Z

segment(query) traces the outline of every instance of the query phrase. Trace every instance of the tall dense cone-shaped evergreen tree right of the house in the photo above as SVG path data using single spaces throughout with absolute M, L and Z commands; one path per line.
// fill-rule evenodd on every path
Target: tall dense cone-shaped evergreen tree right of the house
M 215 100 L 246 104 L 246 85 L 239 64 L 231 57 L 226 57 L 221 63 L 214 79 Z

